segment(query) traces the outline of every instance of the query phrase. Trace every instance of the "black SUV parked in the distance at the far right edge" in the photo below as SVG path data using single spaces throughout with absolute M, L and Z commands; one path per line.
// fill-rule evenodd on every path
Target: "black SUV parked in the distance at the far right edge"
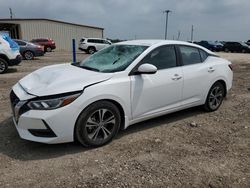
M 226 42 L 223 50 L 225 52 L 242 52 L 249 53 L 250 47 L 244 42 Z

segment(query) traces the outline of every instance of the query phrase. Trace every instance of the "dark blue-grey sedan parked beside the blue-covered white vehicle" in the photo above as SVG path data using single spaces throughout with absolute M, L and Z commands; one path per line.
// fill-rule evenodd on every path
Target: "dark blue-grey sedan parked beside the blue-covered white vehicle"
M 24 59 L 31 60 L 34 59 L 34 57 L 44 55 L 43 46 L 19 39 L 14 39 L 14 41 L 19 45 L 20 54 Z

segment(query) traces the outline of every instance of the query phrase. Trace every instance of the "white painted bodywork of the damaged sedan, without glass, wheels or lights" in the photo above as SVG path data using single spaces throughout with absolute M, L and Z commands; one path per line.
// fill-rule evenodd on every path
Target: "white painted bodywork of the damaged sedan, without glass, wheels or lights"
M 82 94 L 67 106 L 54 110 L 29 110 L 14 123 L 19 135 L 42 143 L 64 143 L 74 140 L 74 127 L 81 112 L 93 102 L 112 100 L 124 111 L 124 128 L 153 117 L 205 103 L 213 83 L 223 80 L 227 91 L 232 87 L 233 73 L 229 61 L 208 56 L 205 62 L 158 70 L 155 74 L 129 75 L 134 67 L 153 49 L 162 45 L 188 45 L 206 51 L 195 44 L 179 41 L 141 40 L 119 45 L 146 45 L 148 48 L 124 71 L 93 72 L 70 64 L 39 69 L 21 79 L 13 87 L 20 101 L 82 90 Z M 14 107 L 15 111 L 16 107 Z M 37 137 L 28 129 L 46 129 L 45 121 L 57 135 Z

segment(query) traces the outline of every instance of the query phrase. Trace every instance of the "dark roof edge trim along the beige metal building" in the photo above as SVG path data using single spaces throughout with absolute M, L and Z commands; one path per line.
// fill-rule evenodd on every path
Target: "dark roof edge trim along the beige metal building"
M 104 28 L 101 28 L 101 27 L 75 24 L 75 23 L 64 22 L 64 21 L 59 21 L 59 20 L 52 20 L 52 19 L 47 19 L 47 18 L 14 18 L 14 19 L 3 18 L 3 19 L 0 19 L 0 22 L 15 22 L 15 21 L 49 21 L 49 22 L 56 22 L 56 23 L 69 24 L 69 25 L 74 25 L 74 26 L 89 27 L 89 28 L 104 30 Z

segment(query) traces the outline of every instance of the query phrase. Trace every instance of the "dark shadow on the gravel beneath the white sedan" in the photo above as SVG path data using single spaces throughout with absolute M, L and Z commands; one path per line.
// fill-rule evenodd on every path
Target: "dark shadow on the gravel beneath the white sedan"
M 183 120 L 201 113 L 204 112 L 196 107 L 137 123 L 120 131 L 114 142 L 125 135 Z M 85 148 L 78 142 L 48 145 L 23 140 L 19 137 L 11 117 L 0 123 L 0 135 L 0 154 L 22 161 L 57 158 L 93 149 Z

